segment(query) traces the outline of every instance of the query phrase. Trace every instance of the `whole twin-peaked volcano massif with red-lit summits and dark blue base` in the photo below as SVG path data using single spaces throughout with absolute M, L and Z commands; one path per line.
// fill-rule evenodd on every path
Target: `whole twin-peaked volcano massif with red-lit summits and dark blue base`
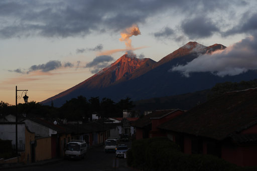
M 225 48 L 221 44 L 206 47 L 197 42 L 189 42 L 158 62 L 149 58 L 138 59 L 125 54 L 87 80 L 41 103 L 50 105 L 53 102 L 54 106 L 59 107 L 66 100 L 81 95 L 87 99 L 106 97 L 113 101 L 119 101 L 129 97 L 132 100 L 142 100 L 204 90 L 220 82 L 255 79 L 257 76 L 255 71 L 224 77 L 213 75 L 210 72 L 196 72 L 190 74 L 188 78 L 179 72 L 170 71 L 173 66 L 185 65 L 199 55 Z

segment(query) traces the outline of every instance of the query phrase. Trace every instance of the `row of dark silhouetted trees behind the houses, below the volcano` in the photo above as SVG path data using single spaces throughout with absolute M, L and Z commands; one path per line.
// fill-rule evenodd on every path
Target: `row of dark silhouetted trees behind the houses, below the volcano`
M 135 107 L 131 98 L 121 99 L 115 103 L 110 98 L 91 97 L 87 100 L 84 96 L 78 96 L 67 100 L 61 107 L 43 105 L 31 101 L 17 105 L 18 116 L 60 118 L 67 120 L 88 120 L 95 113 L 101 117 L 122 117 L 123 110 L 131 110 Z M 16 106 L 3 101 L 0 102 L 0 116 L 16 114 Z

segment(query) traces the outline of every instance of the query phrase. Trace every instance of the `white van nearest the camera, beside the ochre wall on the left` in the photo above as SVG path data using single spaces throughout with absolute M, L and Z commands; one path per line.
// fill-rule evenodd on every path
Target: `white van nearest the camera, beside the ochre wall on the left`
M 71 140 L 65 148 L 65 158 L 84 158 L 87 151 L 87 143 L 83 140 Z

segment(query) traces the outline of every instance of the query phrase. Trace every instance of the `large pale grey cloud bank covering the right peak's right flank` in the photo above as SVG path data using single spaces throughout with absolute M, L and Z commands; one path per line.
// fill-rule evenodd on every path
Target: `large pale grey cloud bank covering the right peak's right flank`
M 192 72 L 211 72 L 224 77 L 234 76 L 257 69 L 257 34 L 247 37 L 221 51 L 202 55 L 186 65 L 174 66 L 170 71 L 179 71 L 189 77 Z

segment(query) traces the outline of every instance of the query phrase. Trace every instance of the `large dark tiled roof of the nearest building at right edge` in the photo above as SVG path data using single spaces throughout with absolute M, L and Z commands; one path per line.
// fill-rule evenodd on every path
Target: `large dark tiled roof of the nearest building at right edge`
M 225 93 L 159 128 L 222 140 L 257 123 L 257 89 Z

